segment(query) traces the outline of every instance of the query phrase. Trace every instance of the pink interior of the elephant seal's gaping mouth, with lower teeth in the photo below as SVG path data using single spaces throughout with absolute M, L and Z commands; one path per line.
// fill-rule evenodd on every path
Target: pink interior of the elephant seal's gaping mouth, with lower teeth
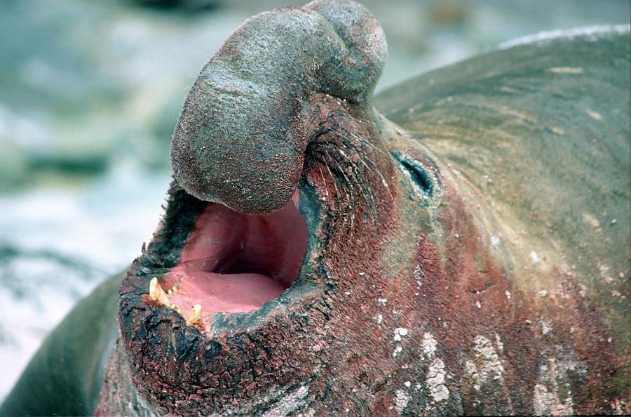
M 250 215 L 209 203 L 197 216 L 179 261 L 149 298 L 179 312 L 186 323 L 208 331 L 217 312 L 258 310 L 297 280 L 308 230 L 299 191 L 278 211 Z

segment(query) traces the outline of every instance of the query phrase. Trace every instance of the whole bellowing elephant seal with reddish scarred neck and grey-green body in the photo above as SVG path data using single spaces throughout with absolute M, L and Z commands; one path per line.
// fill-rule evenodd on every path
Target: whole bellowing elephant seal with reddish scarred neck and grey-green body
M 385 54 L 351 1 L 247 20 L 186 99 L 154 239 L 0 413 L 627 413 L 628 27 L 373 100 Z

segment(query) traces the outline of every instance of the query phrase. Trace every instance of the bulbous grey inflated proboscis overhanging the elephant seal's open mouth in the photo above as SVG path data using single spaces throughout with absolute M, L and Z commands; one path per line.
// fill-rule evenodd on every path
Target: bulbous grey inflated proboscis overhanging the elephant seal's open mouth
M 372 112 L 385 58 L 379 23 L 353 1 L 313 1 L 247 20 L 186 98 L 171 143 L 177 182 L 245 213 L 282 208 L 321 133 L 313 97 L 339 98 L 347 114 Z

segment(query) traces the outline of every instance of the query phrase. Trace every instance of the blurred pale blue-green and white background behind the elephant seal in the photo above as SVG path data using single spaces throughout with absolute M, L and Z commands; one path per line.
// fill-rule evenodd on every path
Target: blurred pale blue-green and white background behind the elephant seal
M 0 3 L 0 401 L 72 305 L 151 239 L 188 88 L 250 15 L 290 1 Z M 550 29 L 628 23 L 628 0 L 365 1 L 377 91 Z

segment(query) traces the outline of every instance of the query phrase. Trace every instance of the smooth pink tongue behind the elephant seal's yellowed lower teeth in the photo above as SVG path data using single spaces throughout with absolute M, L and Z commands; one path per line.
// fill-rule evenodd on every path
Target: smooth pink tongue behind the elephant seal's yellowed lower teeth
M 180 269 L 182 268 L 182 269 Z M 182 278 L 179 291 L 169 296 L 184 317 L 199 304 L 202 317 L 214 312 L 248 312 L 280 296 L 285 287 L 262 274 L 215 274 L 176 267 L 171 274 Z

